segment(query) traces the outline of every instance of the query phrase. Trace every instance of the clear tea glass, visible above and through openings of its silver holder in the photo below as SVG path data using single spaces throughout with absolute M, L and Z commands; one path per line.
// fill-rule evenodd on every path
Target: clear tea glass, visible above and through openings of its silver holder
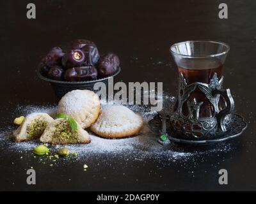
M 229 46 L 218 41 L 184 41 L 175 43 L 170 48 L 178 71 L 182 73 L 187 84 L 202 82 L 209 84 L 214 73 L 218 78 L 222 75 L 223 64 L 227 57 Z M 199 89 L 193 91 L 188 101 L 193 99 L 203 102 L 200 107 L 199 117 L 208 118 L 214 116 L 214 106 Z M 219 110 L 225 108 L 225 100 L 220 99 Z M 184 114 L 188 112 L 186 105 Z

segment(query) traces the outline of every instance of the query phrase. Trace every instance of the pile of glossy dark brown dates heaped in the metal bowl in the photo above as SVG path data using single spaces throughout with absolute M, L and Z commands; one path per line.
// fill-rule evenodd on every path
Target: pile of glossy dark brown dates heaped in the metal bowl
M 109 52 L 100 56 L 90 40 L 74 40 L 70 48 L 54 47 L 41 60 L 40 72 L 47 78 L 67 82 L 81 82 L 108 77 L 120 64 L 116 54 Z

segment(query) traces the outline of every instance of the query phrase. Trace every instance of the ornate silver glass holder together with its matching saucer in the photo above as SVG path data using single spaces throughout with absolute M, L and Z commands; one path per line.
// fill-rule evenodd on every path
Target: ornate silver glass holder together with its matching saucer
M 164 100 L 163 110 L 148 122 L 148 127 L 156 135 L 166 134 L 172 142 L 193 145 L 221 142 L 241 135 L 247 124 L 241 115 L 232 113 L 234 100 L 229 89 L 222 89 L 222 84 L 223 77 L 219 80 L 215 73 L 209 84 L 195 82 L 188 85 L 180 73 L 178 96 L 174 105 Z M 203 101 L 197 102 L 196 98 L 188 100 L 195 89 L 199 89 L 211 103 L 211 117 L 199 117 Z M 220 96 L 225 99 L 225 108 L 222 110 L 219 109 Z M 184 105 L 187 106 L 187 114 L 182 112 Z M 165 133 L 163 126 L 166 126 Z

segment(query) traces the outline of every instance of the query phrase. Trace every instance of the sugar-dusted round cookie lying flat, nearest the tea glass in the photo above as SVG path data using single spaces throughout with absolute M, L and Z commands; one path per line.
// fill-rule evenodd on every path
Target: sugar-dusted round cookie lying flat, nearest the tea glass
M 102 108 L 91 130 L 104 138 L 123 138 L 141 131 L 143 119 L 129 108 L 121 105 L 106 105 Z

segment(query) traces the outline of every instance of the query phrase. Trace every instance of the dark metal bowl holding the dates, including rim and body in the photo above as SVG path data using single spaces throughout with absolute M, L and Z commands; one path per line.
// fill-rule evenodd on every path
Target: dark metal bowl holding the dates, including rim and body
M 97 80 L 89 80 L 89 81 L 84 81 L 84 82 L 65 82 L 65 81 L 58 81 L 58 80 L 52 80 L 51 78 L 47 78 L 44 77 L 41 73 L 40 70 L 37 70 L 37 75 L 40 79 L 44 80 L 45 82 L 50 82 L 52 89 L 54 90 L 57 99 L 61 99 L 62 96 L 64 96 L 65 94 L 67 94 L 67 92 L 70 92 L 72 90 L 76 90 L 76 89 L 81 89 L 81 90 L 90 90 L 90 91 L 94 91 L 93 90 L 93 86 L 95 83 L 97 82 L 103 82 L 104 84 L 106 84 L 107 90 L 108 90 L 108 79 L 111 77 L 115 77 L 116 75 L 118 75 L 121 71 L 121 68 L 118 67 L 116 72 L 113 75 L 110 75 L 108 77 L 104 77 L 104 78 L 99 78 Z

